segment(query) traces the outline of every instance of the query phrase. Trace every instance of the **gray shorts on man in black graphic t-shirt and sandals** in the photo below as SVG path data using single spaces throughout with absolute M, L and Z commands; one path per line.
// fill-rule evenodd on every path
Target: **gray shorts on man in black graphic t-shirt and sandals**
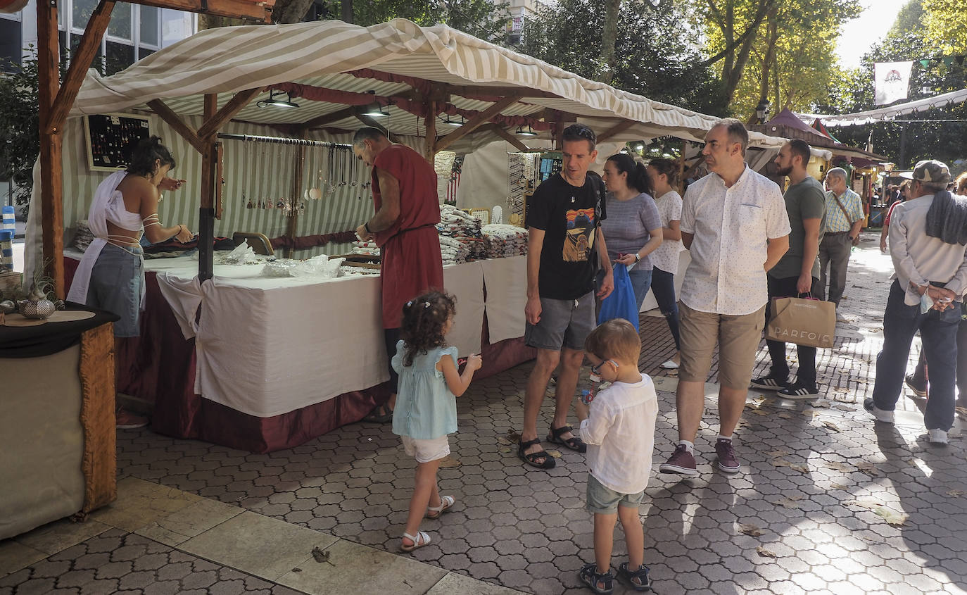
M 527 324 L 524 342 L 530 347 L 560 351 L 567 347 L 584 350 L 584 340 L 595 329 L 595 293 L 576 300 L 541 298 L 541 320 Z

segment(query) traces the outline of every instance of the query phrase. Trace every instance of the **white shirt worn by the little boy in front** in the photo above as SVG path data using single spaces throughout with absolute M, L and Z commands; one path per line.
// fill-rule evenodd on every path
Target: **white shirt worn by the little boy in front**
M 659 398 L 648 374 L 615 382 L 591 402 L 578 435 L 588 445 L 588 472 L 605 488 L 638 493 L 648 487 Z

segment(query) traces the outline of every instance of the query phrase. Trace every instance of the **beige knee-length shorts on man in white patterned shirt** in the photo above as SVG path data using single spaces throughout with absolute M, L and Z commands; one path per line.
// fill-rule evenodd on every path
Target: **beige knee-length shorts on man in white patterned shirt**
M 699 312 L 684 303 L 679 305 L 679 310 L 682 318 L 679 379 L 705 382 L 718 343 L 718 383 L 735 390 L 747 389 L 766 324 L 766 307 L 741 316 Z

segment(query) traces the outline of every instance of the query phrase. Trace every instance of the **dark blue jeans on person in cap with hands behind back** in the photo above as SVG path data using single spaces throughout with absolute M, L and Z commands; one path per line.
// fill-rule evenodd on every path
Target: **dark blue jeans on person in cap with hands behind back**
M 884 411 L 893 411 L 896 407 L 910 357 L 910 342 L 919 330 L 930 370 L 930 399 L 923 411 L 923 425 L 927 430 L 949 431 L 953 426 L 960 309 L 930 310 L 922 314 L 920 304 L 907 306 L 903 299 L 904 291 L 894 281 L 887 312 L 883 314 L 883 350 L 876 356 L 873 402 Z

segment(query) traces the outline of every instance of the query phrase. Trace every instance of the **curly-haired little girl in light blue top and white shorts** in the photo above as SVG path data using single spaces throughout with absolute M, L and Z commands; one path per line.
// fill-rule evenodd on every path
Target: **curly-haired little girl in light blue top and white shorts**
M 458 372 L 456 347 L 448 346 L 446 335 L 454 325 L 454 298 L 430 291 L 403 305 L 393 368 L 399 374 L 393 433 L 400 436 L 406 454 L 417 460 L 416 481 L 410 498 L 410 514 L 399 549 L 412 551 L 429 545 L 420 530 L 426 519 L 438 519 L 450 510 L 454 497 L 440 495 L 436 471 L 450 454 L 447 434 L 456 431 L 456 397 L 467 390 L 474 372 L 480 369 L 480 355 L 467 358 Z

